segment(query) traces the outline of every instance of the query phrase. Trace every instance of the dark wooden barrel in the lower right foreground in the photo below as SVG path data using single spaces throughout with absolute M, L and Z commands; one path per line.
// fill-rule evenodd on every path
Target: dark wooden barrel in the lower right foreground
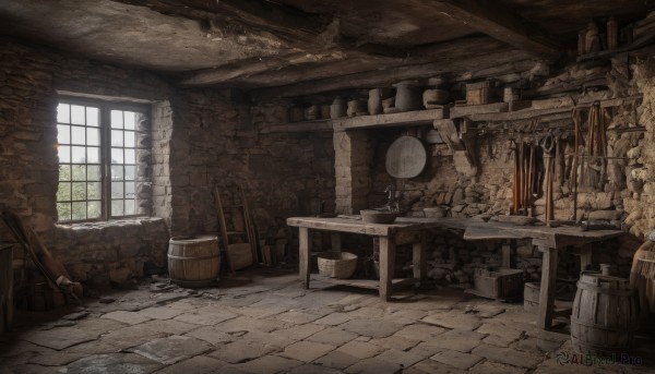
M 582 353 L 623 353 L 634 340 L 639 306 L 630 281 L 583 272 L 571 314 L 571 342 Z

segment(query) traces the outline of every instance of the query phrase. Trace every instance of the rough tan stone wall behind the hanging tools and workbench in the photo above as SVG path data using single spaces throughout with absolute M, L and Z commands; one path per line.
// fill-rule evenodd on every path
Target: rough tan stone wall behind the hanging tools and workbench
M 629 61 L 631 64 L 629 64 Z M 622 275 L 628 274 L 632 253 L 636 250 L 644 234 L 655 226 L 653 192 L 653 59 L 612 59 L 607 65 L 571 64 L 559 72 L 541 76 L 540 82 L 532 89 L 532 97 L 544 100 L 544 106 L 553 104 L 568 108 L 575 102 L 609 100 L 628 97 L 627 100 L 612 104 L 605 109 L 607 118 L 608 156 L 606 180 L 600 186 L 590 186 L 579 181 L 577 218 L 606 219 L 622 221 L 630 237 L 618 241 L 599 244 L 602 250 L 594 251 L 594 263 L 608 262 L 618 265 Z M 583 92 L 571 88 L 575 83 L 591 87 Z M 561 88 L 563 87 L 563 88 Z M 565 89 L 558 92 L 557 89 Z M 643 95 L 643 100 L 640 98 Z M 548 101 L 548 99 L 551 99 Z M 568 104 L 565 104 L 568 102 Z M 448 215 L 453 217 L 475 217 L 488 219 L 497 215 L 510 214 L 513 198 L 513 164 L 514 142 L 538 142 L 548 133 L 548 129 L 561 128 L 558 146 L 564 155 L 562 177 L 555 181 L 555 218 L 573 218 L 573 194 L 571 174 L 571 155 L 574 153 L 573 125 L 568 118 L 546 117 L 543 121 L 535 119 L 507 121 L 498 123 L 474 123 L 467 147 L 472 150 L 478 173 L 475 177 L 458 173 L 453 156 L 444 144 L 427 145 L 428 161 L 424 172 L 410 180 L 394 180 L 384 170 L 384 156 L 391 143 L 400 135 L 410 131 L 418 135 L 427 133 L 430 126 L 416 129 L 370 129 L 357 148 L 373 149 L 370 154 L 359 154 L 359 164 L 368 164 L 371 170 L 369 179 L 367 207 L 378 207 L 385 203 L 383 193 L 388 184 L 395 184 L 401 205 L 408 215 L 422 216 L 422 208 L 444 206 Z M 581 114 L 582 124 L 586 129 L 587 111 Z M 537 123 L 537 124 L 535 124 Z M 532 126 L 532 128 L 531 128 Z M 638 126 L 644 126 L 645 132 Z M 514 130 L 508 130 L 514 128 Z M 642 129 L 644 129 L 642 128 Z M 532 129 L 519 134 L 520 129 Z M 535 130 L 536 129 L 536 130 Z M 343 136 L 342 136 L 343 137 Z M 336 138 L 336 137 L 335 137 Z M 336 142 L 335 142 L 336 146 Z M 368 157 L 368 158 L 367 158 Z M 347 159 L 346 156 L 342 158 Z M 338 162 L 338 176 L 345 172 L 345 162 Z M 591 168 L 584 165 L 583 168 Z M 588 170 L 585 170 L 588 173 Z M 364 178 L 364 177 L 360 177 Z M 544 183 L 543 180 L 540 183 Z M 360 190 L 350 189 L 350 191 Z M 338 197 L 347 201 L 347 196 Z M 337 204 L 338 205 L 338 204 Z M 537 196 L 534 214 L 545 218 L 545 198 Z M 347 210 L 346 208 L 343 209 Z M 356 213 L 356 212 L 355 212 Z M 499 265 L 500 243 L 466 243 L 456 237 L 436 236 L 431 241 L 430 262 L 431 276 L 442 279 L 450 275 L 453 281 L 471 279 L 473 268 L 477 266 Z M 456 249 L 456 251 L 452 251 Z M 526 270 L 529 278 L 538 278 L 540 274 L 540 254 L 529 243 L 520 243 L 517 249 L 517 267 Z M 560 257 L 560 268 L 576 272 L 579 256 L 571 254 Z

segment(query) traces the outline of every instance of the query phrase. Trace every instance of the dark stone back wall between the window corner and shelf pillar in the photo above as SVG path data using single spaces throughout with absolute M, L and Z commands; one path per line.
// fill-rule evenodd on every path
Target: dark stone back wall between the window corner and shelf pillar
M 236 93 L 179 91 L 171 105 L 171 232 L 217 232 L 214 189 L 224 206 L 241 203 L 239 189 L 262 239 L 275 238 L 291 215 L 315 214 L 334 204 L 332 133 L 272 132 L 288 102 L 240 101 Z M 226 208 L 229 229 L 242 228 L 241 210 Z

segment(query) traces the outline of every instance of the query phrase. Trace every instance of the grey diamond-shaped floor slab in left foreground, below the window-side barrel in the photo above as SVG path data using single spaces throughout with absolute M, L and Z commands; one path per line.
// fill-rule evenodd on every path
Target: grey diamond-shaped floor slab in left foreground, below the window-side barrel
M 130 348 L 127 351 L 141 354 L 165 365 L 170 365 L 204 353 L 211 349 L 212 346 L 206 341 L 189 336 L 172 335 Z

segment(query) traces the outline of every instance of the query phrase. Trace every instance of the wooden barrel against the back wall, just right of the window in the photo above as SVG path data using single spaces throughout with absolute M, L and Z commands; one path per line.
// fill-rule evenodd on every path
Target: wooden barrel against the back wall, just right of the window
M 218 277 L 218 238 L 172 237 L 168 243 L 168 275 L 182 287 L 204 287 Z

